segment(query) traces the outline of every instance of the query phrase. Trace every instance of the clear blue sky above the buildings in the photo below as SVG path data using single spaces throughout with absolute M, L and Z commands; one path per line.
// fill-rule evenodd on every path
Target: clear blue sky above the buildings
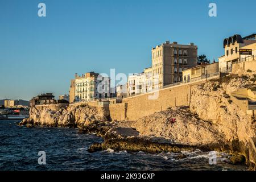
M 47 16 L 38 16 L 46 3 Z M 217 4 L 217 17 L 208 15 Z M 222 40 L 256 32 L 256 2 L 0 0 L 0 98 L 68 93 L 75 73 L 142 72 L 151 47 L 195 43 L 217 60 Z

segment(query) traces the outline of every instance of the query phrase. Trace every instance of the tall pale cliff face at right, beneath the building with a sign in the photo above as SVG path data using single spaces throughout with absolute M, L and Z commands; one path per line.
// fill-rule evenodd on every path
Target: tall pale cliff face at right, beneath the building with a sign
M 192 90 L 190 110 L 201 119 L 212 121 L 217 126 L 217 132 L 223 134 L 225 143 L 233 140 L 247 143 L 247 139 L 254 135 L 252 119 L 240 107 L 230 102 L 230 94 L 238 88 L 253 85 L 249 79 L 232 75 L 218 81 L 209 81 L 202 89 Z M 209 89 L 214 86 L 218 89 Z

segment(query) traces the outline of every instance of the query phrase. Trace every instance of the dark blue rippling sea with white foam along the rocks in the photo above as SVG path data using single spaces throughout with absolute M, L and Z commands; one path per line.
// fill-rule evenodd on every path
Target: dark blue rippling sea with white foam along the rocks
M 77 129 L 27 128 L 19 121 L 0 121 L 0 170 L 246 170 L 223 162 L 227 155 L 217 153 L 217 164 L 209 165 L 209 153 L 144 154 L 106 150 L 90 154 L 87 148 L 102 139 L 79 134 Z M 38 152 L 46 152 L 46 165 L 38 164 Z

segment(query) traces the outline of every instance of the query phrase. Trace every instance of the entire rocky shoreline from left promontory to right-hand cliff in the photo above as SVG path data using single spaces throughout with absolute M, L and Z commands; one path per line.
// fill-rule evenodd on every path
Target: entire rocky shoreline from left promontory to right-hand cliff
M 238 76 L 209 81 L 192 90 L 190 107 L 170 107 L 138 121 L 109 121 L 106 110 L 80 105 L 58 111 L 32 107 L 30 118 L 19 125 L 78 127 L 80 133 L 104 138 L 103 143 L 90 146 L 89 152 L 111 148 L 150 154 L 175 152 L 185 158 L 181 151 L 198 148 L 229 152 L 230 163 L 249 165 L 247 139 L 254 135 L 253 121 L 229 98 L 238 88 L 254 85 L 250 78 Z

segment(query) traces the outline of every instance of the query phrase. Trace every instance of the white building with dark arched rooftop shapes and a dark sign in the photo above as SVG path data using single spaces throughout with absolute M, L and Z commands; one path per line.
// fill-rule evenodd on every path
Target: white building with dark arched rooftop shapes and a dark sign
M 230 36 L 224 39 L 223 48 L 225 55 L 218 58 L 219 67 L 223 72 L 230 72 L 233 64 L 255 59 L 256 34 L 251 34 L 244 38 L 238 34 Z

